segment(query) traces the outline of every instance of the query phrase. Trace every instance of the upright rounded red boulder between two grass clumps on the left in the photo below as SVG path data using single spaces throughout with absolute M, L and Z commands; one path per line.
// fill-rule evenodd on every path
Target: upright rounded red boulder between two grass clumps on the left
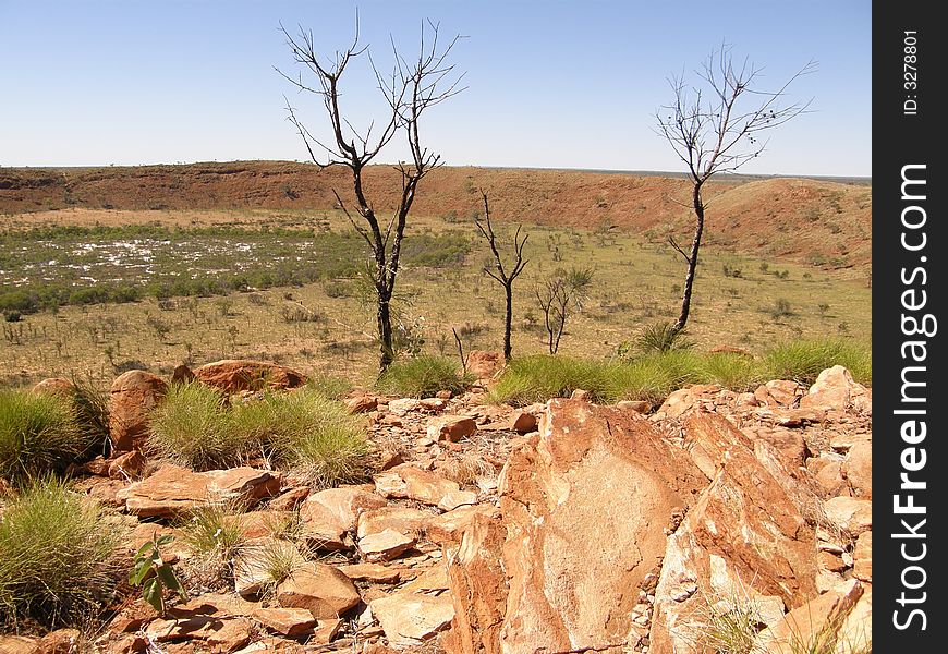
M 109 435 L 113 452 L 141 449 L 151 411 L 168 392 L 165 380 L 145 371 L 119 375 L 109 390 Z

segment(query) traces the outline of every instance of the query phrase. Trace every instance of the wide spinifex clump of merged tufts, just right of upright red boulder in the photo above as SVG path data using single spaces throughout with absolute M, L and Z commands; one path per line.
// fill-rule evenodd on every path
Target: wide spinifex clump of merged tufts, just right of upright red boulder
M 362 421 L 314 387 L 233 400 L 199 383 L 172 387 L 156 409 L 149 440 L 196 469 L 265 456 L 302 468 L 319 485 L 365 479 L 370 451 Z

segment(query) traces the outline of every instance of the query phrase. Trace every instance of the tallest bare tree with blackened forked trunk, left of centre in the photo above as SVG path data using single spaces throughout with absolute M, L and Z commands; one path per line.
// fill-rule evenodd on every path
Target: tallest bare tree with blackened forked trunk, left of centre
M 301 27 L 299 34 L 293 36 L 282 25 L 280 29 L 288 47 L 293 51 L 295 63 L 302 65 L 307 71 L 307 76 L 315 78 L 315 82 L 306 81 L 302 72 L 296 77 L 287 75 L 279 69 L 278 72 L 300 92 L 311 93 L 323 99 L 325 118 L 328 119 L 332 134 L 331 140 L 323 142 L 314 137 L 297 118 L 296 110 L 287 100 L 290 122 L 296 128 L 306 145 L 311 160 L 320 170 L 330 166 L 344 166 L 352 172 L 355 206 L 350 209 L 338 191 L 333 189 L 332 192 L 352 227 L 365 239 L 372 252 L 370 269 L 377 296 L 379 371 L 384 372 L 394 359 L 391 301 L 409 213 L 415 201 L 418 182 L 442 164 L 439 154 L 423 145 L 420 130 L 422 116 L 429 108 L 463 90 L 459 87 L 463 75 L 457 74 L 454 64 L 448 61 L 460 36 L 454 36 L 443 44 L 439 39 L 438 25 L 430 21 L 423 23 L 417 57 L 405 58 L 392 44 L 394 64 L 391 73 L 384 75 L 375 65 L 368 46 L 360 46 L 357 15 L 352 44 L 344 50 L 337 50 L 335 58 L 328 61 L 320 61 L 316 56 L 316 43 L 312 31 L 304 31 Z M 381 129 L 377 129 L 375 121 L 363 130 L 356 129 L 347 118 L 340 104 L 341 80 L 352 61 L 363 55 L 368 57 L 378 89 L 388 105 L 388 110 L 378 121 Z M 386 225 L 386 220 L 379 219 L 366 196 L 364 174 L 366 167 L 398 134 L 405 137 L 411 158 L 408 161 L 400 161 L 396 167 L 401 173 L 401 194 L 398 206 Z M 325 158 L 317 157 L 317 152 Z

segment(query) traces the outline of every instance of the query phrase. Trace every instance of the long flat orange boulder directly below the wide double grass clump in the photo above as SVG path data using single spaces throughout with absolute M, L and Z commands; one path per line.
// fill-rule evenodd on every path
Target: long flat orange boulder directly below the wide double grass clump
M 280 491 L 280 477 L 266 470 L 231 468 L 194 472 L 163 465 L 151 476 L 117 494 L 139 518 L 174 518 L 208 501 L 236 501 L 252 506 Z

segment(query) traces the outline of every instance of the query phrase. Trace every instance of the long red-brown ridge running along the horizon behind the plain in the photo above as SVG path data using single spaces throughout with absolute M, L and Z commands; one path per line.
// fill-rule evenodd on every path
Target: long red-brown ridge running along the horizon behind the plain
M 351 196 L 348 170 L 287 161 L 106 168 L 0 168 L 0 213 L 63 209 L 329 209 Z M 375 166 L 366 189 L 377 211 L 401 191 L 398 172 Z M 690 231 L 682 175 L 550 169 L 445 167 L 422 181 L 414 211 L 470 220 L 490 197 L 503 221 L 633 231 L 653 240 Z M 721 178 L 708 185 L 707 243 L 865 274 L 872 263 L 871 180 Z

